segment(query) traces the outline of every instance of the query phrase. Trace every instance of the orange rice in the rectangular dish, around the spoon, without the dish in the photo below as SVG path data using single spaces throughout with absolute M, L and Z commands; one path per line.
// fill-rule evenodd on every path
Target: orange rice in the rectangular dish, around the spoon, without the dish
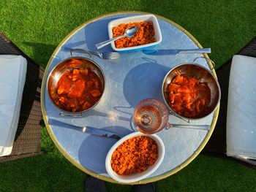
M 113 27 L 113 37 L 118 37 L 124 34 L 127 28 L 132 26 L 140 27 L 132 38 L 123 37 L 115 41 L 116 48 L 134 47 L 138 45 L 145 45 L 148 43 L 156 42 L 154 38 L 154 26 L 151 21 L 148 22 L 135 22 L 135 23 L 121 23 L 118 26 Z

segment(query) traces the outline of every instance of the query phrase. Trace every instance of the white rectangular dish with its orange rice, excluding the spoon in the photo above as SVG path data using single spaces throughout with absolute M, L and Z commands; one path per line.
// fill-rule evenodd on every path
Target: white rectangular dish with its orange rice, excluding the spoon
M 134 37 L 122 37 L 115 42 L 111 42 L 113 50 L 132 52 L 155 47 L 162 42 L 159 23 L 154 15 L 135 15 L 112 20 L 108 23 L 108 36 L 110 39 L 118 37 L 131 26 L 139 26 L 140 28 L 136 31 Z

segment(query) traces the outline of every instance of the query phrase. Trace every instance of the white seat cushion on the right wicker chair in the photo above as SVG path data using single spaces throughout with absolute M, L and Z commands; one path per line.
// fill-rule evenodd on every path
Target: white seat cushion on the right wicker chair
M 227 99 L 227 155 L 256 159 L 256 58 L 234 55 Z

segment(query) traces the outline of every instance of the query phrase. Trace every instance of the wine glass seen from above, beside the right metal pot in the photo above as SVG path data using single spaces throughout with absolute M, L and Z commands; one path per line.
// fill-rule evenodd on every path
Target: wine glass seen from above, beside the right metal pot
M 132 128 L 144 134 L 155 134 L 167 126 L 169 113 L 157 99 L 143 99 L 135 107 Z

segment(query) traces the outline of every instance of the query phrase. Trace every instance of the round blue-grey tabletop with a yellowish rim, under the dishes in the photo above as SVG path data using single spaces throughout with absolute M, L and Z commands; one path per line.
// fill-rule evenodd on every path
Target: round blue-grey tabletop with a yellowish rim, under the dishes
M 49 125 L 49 118 L 61 120 L 76 126 L 93 126 L 116 132 L 124 137 L 132 132 L 131 118 L 134 107 L 142 99 L 155 98 L 163 101 L 161 95 L 162 81 L 165 74 L 178 64 L 192 62 L 198 56 L 208 58 L 206 54 L 178 54 L 178 55 L 144 55 L 141 51 L 124 53 L 121 58 L 102 59 L 93 56 L 91 59 L 102 68 L 106 77 L 105 92 L 93 110 L 83 114 L 83 117 L 63 117 L 59 110 L 50 102 L 46 92 L 48 74 L 56 64 L 70 57 L 71 48 L 96 50 L 98 42 L 108 39 L 108 23 L 110 20 L 132 15 L 148 14 L 146 12 L 114 12 L 83 23 L 75 28 L 56 48 L 45 69 L 42 80 L 41 104 L 45 126 L 51 139 L 61 153 L 75 166 L 87 174 L 101 180 L 116 183 L 109 177 L 105 169 L 105 157 L 110 147 L 115 143 L 112 139 L 105 139 L 94 135 L 75 131 L 71 128 Z M 162 42 L 159 49 L 168 48 L 202 48 L 197 40 L 181 26 L 159 15 L 157 20 L 162 31 Z M 113 51 L 110 45 L 101 51 Z M 75 53 L 85 56 L 83 53 Z M 197 64 L 212 68 L 211 62 L 197 59 Z M 216 76 L 214 69 L 213 74 Z M 208 124 L 210 129 L 199 130 L 189 128 L 170 128 L 162 130 L 157 135 L 165 144 L 165 158 L 156 172 L 137 183 L 143 184 L 161 180 L 187 166 L 199 153 L 211 137 L 217 122 L 217 110 L 200 120 L 193 120 L 192 124 Z M 186 124 L 170 115 L 170 123 Z

